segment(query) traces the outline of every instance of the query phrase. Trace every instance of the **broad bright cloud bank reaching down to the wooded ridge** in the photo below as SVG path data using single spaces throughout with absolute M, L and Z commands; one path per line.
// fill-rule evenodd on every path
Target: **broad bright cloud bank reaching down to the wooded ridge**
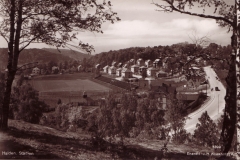
M 90 34 L 85 38 L 93 44 L 96 52 L 135 46 L 171 45 L 191 42 L 191 38 L 208 36 L 212 42 L 226 45 L 230 36 L 210 19 L 173 19 L 169 22 L 148 20 L 125 20 L 109 25 L 104 34 Z M 229 36 L 229 37 L 228 37 Z M 190 38 L 191 37 L 191 38 Z

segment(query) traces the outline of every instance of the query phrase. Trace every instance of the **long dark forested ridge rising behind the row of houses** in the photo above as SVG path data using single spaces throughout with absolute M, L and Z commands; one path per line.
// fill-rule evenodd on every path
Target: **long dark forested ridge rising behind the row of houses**
M 120 49 L 109 52 L 102 52 L 96 54 L 88 59 L 88 63 L 92 66 L 101 64 L 101 66 L 111 65 L 113 61 L 117 63 L 125 63 L 130 59 L 137 60 L 142 58 L 143 60 L 154 61 L 159 57 L 185 57 L 194 53 L 196 45 L 187 42 L 173 44 L 171 46 L 154 46 L 154 47 L 131 47 L 126 49 Z M 211 55 L 211 57 L 220 59 L 229 59 L 231 53 L 231 46 L 221 46 L 215 43 L 210 43 L 208 47 L 204 48 L 204 52 Z M 186 54 L 188 53 L 188 54 Z M 193 56 L 193 55 L 191 55 Z M 214 62 L 215 63 L 215 62 Z

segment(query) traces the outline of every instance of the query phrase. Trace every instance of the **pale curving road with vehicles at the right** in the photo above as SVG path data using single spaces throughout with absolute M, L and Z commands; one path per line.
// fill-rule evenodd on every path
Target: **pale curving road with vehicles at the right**
M 204 67 L 204 71 L 210 85 L 207 93 L 209 99 L 202 107 L 188 115 L 189 119 L 186 121 L 185 129 L 190 133 L 194 132 L 196 124 L 199 122 L 198 118 L 201 117 L 203 112 L 207 111 L 211 119 L 217 120 L 221 114 L 223 114 L 225 107 L 224 97 L 226 95 L 226 89 L 223 84 L 216 79 L 217 75 L 210 66 Z M 215 91 L 215 87 L 218 87 L 220 91 Z M 213 88 L 213 91 L 211 91 L 211 88 Z

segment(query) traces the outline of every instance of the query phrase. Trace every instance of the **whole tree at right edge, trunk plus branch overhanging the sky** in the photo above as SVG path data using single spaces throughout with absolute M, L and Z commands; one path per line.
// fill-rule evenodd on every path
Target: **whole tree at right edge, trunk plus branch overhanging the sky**
M 227 153 L 231 148 L 233 135 L 236 125 L 236 56 L 237 56 L 237 34 L 239 29 L 237 27 L 237 8 L 239 4 L 235 1 L 235 5 L 226 4 L 224 0 L 161 0 L 160 3 L 154 4 L 160 8 L 159 11 L 164 12 L 178 12 L 191 16 L 214 19 L 221 27 L 227 27 L 232 31 L 231 46 L 233 48 L 229 64 L 229 73 L 226 78 L 227 93 L 225 96 L 225 112 L 221 138 L 223 142 L 222 151 Z M 194 12 L 193 9 L 199 7 L 203 9 L 202 13 Z M 213 9 L 212 14 L 205 12 Z

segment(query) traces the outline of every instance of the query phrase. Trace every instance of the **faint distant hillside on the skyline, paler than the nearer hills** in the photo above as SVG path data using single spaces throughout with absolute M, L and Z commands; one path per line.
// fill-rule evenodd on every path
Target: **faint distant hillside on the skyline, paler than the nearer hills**
M 54 48 L 42 48 L 42 50 L 51 52 L 51 53 L 55 53 L 58 55 L 63 55 L 63 56 L 68 56 L 74 60 L 83 60 L 84 58 L 89 58 L 91 57 L 91 55 L 86 54 L 86 53 L 82 53 L 82 52 L 78 52 L 78 51 L 73 51 L 73 50 L 68 50 L 68 49 L 54 49 Z M 60 51 L 60 52 L 59 52 Z

